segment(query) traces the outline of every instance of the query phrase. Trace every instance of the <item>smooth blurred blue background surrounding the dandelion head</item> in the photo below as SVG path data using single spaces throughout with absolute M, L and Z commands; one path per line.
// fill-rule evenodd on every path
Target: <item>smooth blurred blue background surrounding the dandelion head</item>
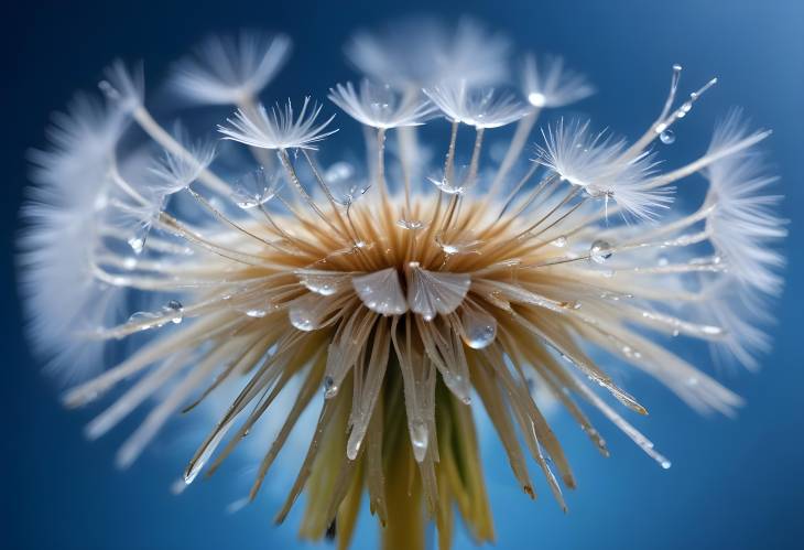
M 432 4 L 431 4 L 432 3 Z M 442 0 L 345 2 L 24 2 L 6 8 L 2 55 L 2 250 L 0 328 L 0 498 L 2 548 L 271 549 L 296 543 L 294 519 L 275 529 L 276 503 L 261 499 L 237 515 L 226 475 L 181 497 L 166 486 L 188 447 L 181 427 L 127 473 L 115 449 L 133 424 L 89 443 L 82 427 L 91 411 L 68 413 L 24 345 L 12 252 L 26 166 L 24 151 L 43 143 L 48 114 L 73 90 L 96 82 L 113 56 L 145 61 L 152 82 L 171 60 L 211 31 L 241 26 L 283 30 L 295 40 L 291 64 L 272 84 L 278 98 L 312 93 L 350 77 L 340 46 L 357 26 L 409 13 L 446 19 L 469 13 L 509 33 L 520 46 L 564 54 L 600 90 L 583 104 L 600 126 L 637 136 L 663 100 L 672 63 L 685 67 L 683 89 L 709 76 L 720 84 L 677 129 L 667 155 L 700 151 L 716 118 L 745 106 L 772 128 L 772 159 L 783 176 L 787 289 L 778 303 L 774 352 L 752 375 L 720 373 L 746 397 L 737 420 L 702 419 L 641 377 L 628 387 L 652 414 L 639 422 L 673 460 L 651 463 L 613 428 L 604 427 L 612 457 L 601 459 L 564 416 L 554 419 L 579 488 L 569 514 L 544 484 L 535 503 L 514 487 L 500 450 L 487 452 L 498 548 L 801 548 L 804 540 L 804 431 L 801 368 L 804 326 L 801 238 L 804 186 L 804 2 Z M 14 11 L 11 11 L 14 10 Z M 96 409 L 97 411 L 97 409 Z M 366 522 L 363 525 L 370 525 Z M 371 528 L 356 547 L 370 547 Z M 459 547 L 468 546 L 460 539 Z

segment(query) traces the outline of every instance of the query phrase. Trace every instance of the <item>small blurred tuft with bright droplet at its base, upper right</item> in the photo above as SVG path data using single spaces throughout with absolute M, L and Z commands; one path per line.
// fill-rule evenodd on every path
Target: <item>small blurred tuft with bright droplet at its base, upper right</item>
M 522 88 L 528 101 L 536 108 L 564 107 L 595 93 L 584 75 L 564 68 L 564 58 L 557 56 L 545 56 L 539 63 L 535 55 L 526 56 Z

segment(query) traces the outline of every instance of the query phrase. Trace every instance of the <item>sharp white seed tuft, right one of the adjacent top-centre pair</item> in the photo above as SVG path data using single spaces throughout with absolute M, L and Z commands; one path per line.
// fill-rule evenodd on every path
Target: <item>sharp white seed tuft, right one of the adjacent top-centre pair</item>
M 466 79 L 425 88 L 424 93 L 446 118 L 475 128 L 498 128 L 526 115 L 524 106 L 513 96 L 493 88 L 470 88 Z

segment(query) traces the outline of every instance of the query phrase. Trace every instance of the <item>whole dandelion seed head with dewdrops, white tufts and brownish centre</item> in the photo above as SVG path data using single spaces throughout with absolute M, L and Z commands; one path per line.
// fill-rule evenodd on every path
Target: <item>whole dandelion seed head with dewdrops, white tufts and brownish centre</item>
M 543 413 L 552 401 L 601 454 L 609 449 L 588 411 L 670 467 L 627 418 L 645 408 L 604 365 L 643 371 L 702 413 L 732 414 L 740 406 L 674 349 L 699 339 L 717 357 L 756 367 L 769 346 L 762 325 L 770 320 L 747 312 L 783 283 L 775 247 L 785 228 L 758 152 L 770 132 L 749 130 L 732 112 L 700 157 L 662 171 L 653 141 L 714 84 L 678 103 L 675 66 L 660 116 L 638 139 L 562 119 L 541 137 L 534 132 L 536 157 L 529 161 L 522 151 L 541 108 L 580 99 L 590 86 L 555 62 L 535 79 L 533 68 L 526 107 L 485 88 L 499 75 L 481 65 L 502 54 L 503 42 L 491 40 L 482 51 L 482 34 L 461 29 L 454 40 L 422 29 L 425 40 L 413 41 L 410 60 L 388 37 L 352 43 L 349 55 L 368 77 L 399 76 L 379 78 L 390 87 L 332 89 L 333 101 L 366 127 L 365 170 L 345 161 L 322 169 L 316 151 L 335 130 L 309 98 L 297 115 L 290 101 L 270 111 L 236 105 L 218 127 L 231 147 L 214 160 L 210 147 L 162 128 L 133 84 L 141 80 L 121 64 L 102 86 L 107 104 L 80 96 L 56 118 L 54 149 L 32 155 L 36 184 L 23 211 L 20 274 L 30 332 L 47 355 L 69 358 L 54 368 L 84 378 L 67 390 L 68 407 L 129 384 L 91 421 L 88 436 L 151 403 L 118 465 L 131 464 L 174 413 L 239 384 L 189 459 L 186 484 L 222 467 L 261 421 L 281 419 L 275 438 L 260 441 L 249 494 L 256 498 L 303 430 L 300 418 L 315 409 L 276 520 L 307 492 L 302 536 L 335 533 L 346 547 L 368 495 L 385 548 L 424 548 L 428 521 L 448 548 L 456 514 L 477 541 L 493 540 L 478 408 L 523 492 L 533 498 L 539 489 L 532 460 L 566 509 L 564 488 L 576 482 Z M 232 67 L 272 60 L 250 94 L 280 56 L 271 53 L 275 42 L 261 44 L 259 52 L 226 50 Z M 433 64 L 394 63 L 420 57 Z M 186 80 L 186 66 L 178 74 Z M 380 107 L 378 94 L 390 98 Z M 428 118 L 424 94 L 449 125 Z M 425 122 L 444 136 L 435 145 L 444 153 L 435 186 L 412 180 L 410 164 L 422 160 L 413 158 L 419 149 L 404 147 Z M 482 137 L 513 122 L 496 165 Z M 128 132 L 133 125 L 142 130 L 135 136 Z M 461 127 L 474 130 L 472 143 L 458 139 Z M 406 152 L 389 155 L 387 138 Z M 156 183 L 144 169 L 152 162 L 142 160 L 154 149 L 164 159 Z M 514 166 L 522 174 L 511 179 Z M 671 201 L 674 190 L 707 182 L 692 209 Z M 154 299 L 162 305 L 154 309 Z M 143 304 L 130 317 L 122 312 Z M 134 338 L 133 352 L 86 379 L 102 365 L 98 349 L 126 338 Z M 534 380 L 542 392 L 532 391 Z

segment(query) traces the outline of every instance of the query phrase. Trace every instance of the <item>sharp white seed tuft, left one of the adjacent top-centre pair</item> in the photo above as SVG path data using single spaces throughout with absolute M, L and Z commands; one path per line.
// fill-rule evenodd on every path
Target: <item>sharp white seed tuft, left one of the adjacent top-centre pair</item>
M 329 88 L 329 99 L 360 123 L 372 128 L 421 126 L 433 112 L 430 101 L 417 94 L 399 95 L 388 84 L 378 85 L 368 79 L 359 90 L 351 83 Z

